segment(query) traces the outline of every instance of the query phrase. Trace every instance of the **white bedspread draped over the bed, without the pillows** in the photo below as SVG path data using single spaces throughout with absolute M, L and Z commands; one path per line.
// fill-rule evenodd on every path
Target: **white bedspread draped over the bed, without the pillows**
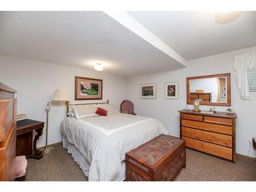
M 67 117 L 61 123 L 61 131 L 91 163 L 89 181 L 111 181 L 121 170 L 125 153 L 167 134 L 156 119 L 123 113 L 79 120 Z

